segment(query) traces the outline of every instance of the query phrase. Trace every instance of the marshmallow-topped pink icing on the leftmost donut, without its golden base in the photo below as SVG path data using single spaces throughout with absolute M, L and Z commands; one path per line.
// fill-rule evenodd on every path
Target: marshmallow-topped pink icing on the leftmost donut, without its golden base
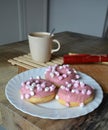
M 21 83 L 20 88 L 21 99 L 28 99 L 32 96 L 45 97 L 54 94 L 55 91 L 55 85 L 53 85 L 51 82 L 48 82 L 40 78 L 30 78 L 29 80 Z

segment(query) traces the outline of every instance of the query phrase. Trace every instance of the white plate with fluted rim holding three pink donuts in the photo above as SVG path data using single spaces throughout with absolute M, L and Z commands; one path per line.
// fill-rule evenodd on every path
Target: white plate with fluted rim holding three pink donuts
M 42 78 L 44 78 L 45 69 L 46 68 L 39 68 L 25 71 L 16 75 L 8 82 L 8 84 L 6 85 L 5 94 L 9 102 L 14 107 L 24 113 L 40 118 L 69 119 L 86 115 L 92 112 L 102 102 L 103 92 L 100 85 L 93 78 L 81 72 L 79 72 L 82 77 L 81 80 L 91 85 L 96 91 L 94 100 L 84 107 L 68 108 L 60 105 L 55 99 L 51 102 L 38 105 L 34 105 L 27 101 L 21 100 L 19 93 L 21 83 L 28 80 L 30 77 L 35 78 L 36 76 L 41 76 Z

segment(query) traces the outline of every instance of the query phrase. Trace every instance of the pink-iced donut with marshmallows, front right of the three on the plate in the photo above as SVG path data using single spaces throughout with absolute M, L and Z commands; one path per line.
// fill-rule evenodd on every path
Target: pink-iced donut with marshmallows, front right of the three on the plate
M 94 89 L 78 80 L 72 80 L 65 86 L 60 86 L 56 95 L 57 101 L 67 107 L 81 106 L 91 102 L 94 98 Z

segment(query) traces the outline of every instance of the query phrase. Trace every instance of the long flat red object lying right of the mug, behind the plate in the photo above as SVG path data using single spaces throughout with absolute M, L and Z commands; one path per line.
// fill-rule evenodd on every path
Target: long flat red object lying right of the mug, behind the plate
M 65 64 L 108 62 L 108 55 L 74 54 L 64 55 Z

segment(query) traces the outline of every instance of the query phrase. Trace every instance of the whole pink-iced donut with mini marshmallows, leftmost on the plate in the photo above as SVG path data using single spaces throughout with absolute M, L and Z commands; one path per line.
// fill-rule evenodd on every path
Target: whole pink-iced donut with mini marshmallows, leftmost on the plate
M 38 76 L 21 83 L 20 94 L 22 100 L 35 104 L 44 103 L 55 98 L 56 86 Z

